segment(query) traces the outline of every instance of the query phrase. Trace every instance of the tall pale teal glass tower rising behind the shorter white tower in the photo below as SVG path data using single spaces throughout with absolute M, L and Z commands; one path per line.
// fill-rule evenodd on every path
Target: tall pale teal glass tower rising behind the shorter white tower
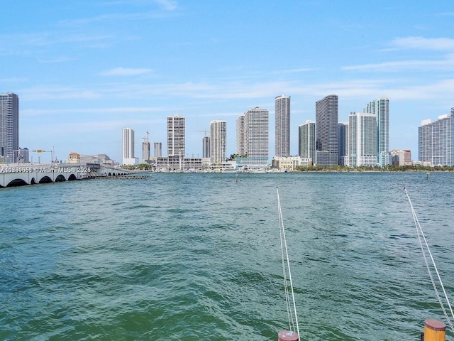
M 368 114 L 377 117 L 377 165 L 389 165 L 389 99 L 380 97 L 367 104 Z

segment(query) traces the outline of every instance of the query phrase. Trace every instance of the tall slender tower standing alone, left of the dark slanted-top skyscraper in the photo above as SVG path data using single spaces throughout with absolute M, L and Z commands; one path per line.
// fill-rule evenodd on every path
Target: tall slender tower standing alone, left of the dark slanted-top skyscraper
M 290 97 L 275 97 L 275 156 L 290 156 Z

